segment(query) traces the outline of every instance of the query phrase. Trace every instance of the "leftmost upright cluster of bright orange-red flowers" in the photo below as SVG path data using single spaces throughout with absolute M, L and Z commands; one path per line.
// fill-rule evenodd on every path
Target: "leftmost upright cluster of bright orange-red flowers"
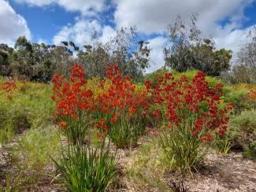
M 57 103 L 55 115 L 58 120 L 63 117 L 72 117 L 72 120 L 81 118 L 80 113 L 93 109 L 92 91 L 86 89 L 87 79 L 85 79 L 84 68 L 81 65 L 73 65 L 69 81 L 65 81 L 64 76 L 54 75 L 54 94 L 51 98 Z M 61 124 L 65 127 L 65 124 Z

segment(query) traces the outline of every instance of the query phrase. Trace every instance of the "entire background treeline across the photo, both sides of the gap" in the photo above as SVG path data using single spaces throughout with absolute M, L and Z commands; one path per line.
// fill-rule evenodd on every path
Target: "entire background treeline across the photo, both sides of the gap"
M 209 76 L 221 76 L 229 83 L 256 83 L 256 30 L 251 31 L 252 41 L 241 46 L 236 65 L 232 66 L 232 51 L 217 50 L 213 39 L 204 37 L 197 28 L 196 20 L 195 15 L 186 20 L 178 16 L 174 24 L 169 24 L 166 33 L 169 41 L 163 50 L 164 68 L 178 72 L 198 69 Z M 117 30 L 104 43 L 94 32 L 91 44 L 83 47 L 72 41 L 63 41 L 61 45 L 39 44 L 24 36 L 17 39 L 14 47 L 0 44 L 1 76 L 49 82 L 54 73 L 68 75 L 74 63 L 84 65 L 88 78 L 105 77 L 106 66 L 115 63 L 124 76 L 139 81 L 150 65 L 150 44 L 139 39 L 135 27 Z

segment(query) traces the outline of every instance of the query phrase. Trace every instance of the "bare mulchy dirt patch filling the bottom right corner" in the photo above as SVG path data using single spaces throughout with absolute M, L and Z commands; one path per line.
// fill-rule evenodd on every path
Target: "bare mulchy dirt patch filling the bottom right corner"
M 205 168 L 186 185 L 189 191 L 256 191 L 256 163 L 241 153 L 210 153 Z

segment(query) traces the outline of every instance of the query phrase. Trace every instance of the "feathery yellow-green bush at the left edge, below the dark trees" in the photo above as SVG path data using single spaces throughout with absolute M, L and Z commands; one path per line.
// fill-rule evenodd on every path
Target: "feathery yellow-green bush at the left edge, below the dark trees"
M 4 82 L 0 79 L 0 87 Z M 54 102 L 50 94 L 50 85 L 19 81 L 11 94 L 0 90 L 0 142 L 7 142 L 24 129 L 51 124 Z

